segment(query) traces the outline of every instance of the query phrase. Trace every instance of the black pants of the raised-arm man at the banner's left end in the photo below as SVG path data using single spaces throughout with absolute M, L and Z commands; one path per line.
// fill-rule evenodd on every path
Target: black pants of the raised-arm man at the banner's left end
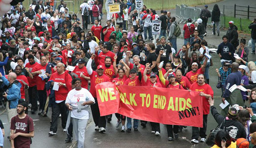
M 98 109 L 97 98 L 94 98 L 94 99 L 95 99 L 95 104 L 91 105 L 91 109 L 92 109 L 92 114 L 93 114 L 95 126 L 105 128 L 106 127 L 106 117 L 105 116 L 100 116 L 99 109 Z

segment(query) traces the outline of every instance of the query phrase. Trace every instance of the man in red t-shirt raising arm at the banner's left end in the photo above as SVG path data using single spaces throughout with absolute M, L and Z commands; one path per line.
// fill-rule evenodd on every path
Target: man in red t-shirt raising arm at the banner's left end
M 95 98 L 95 104 L 91 105 L 93 118 L 95 122 L 95 130 L 98 130 L 99 132 L 105 132 L 106 128 L 106 117 L 102 116 L 100 117 L 99 109 L 98 109 L 98 102 L 97 102 L 97 96 L 96 96 L 96 85 L 102 82 L 111 82 L 110 78 L 104 74 L 104 66 L 98 65 L 97 70 L 93 71 L 92 69 L 92 61 L 96 58 L 96 55 L 93 54 L 92 57 L 88 60 L 86 69 L 88 74 L 91 78 L 91 89 L 90 92 L 92 93 L 93 97 Z M 112 65 L 113 66 L 113 65 Z

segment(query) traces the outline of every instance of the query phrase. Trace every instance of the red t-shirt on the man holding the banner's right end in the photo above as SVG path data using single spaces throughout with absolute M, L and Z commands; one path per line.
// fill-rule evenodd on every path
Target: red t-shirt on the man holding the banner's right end
M 213 98 L 213 89 L 210 85 L 204 84 L 202 86 L 199 86 L 197 83 L 193 83 L 190 87 L 191 90 L 203 92 L 205 94 L 210 94 Z M 208 115 L 210 111 L 210 104 L 208 102 L 208 99 L 203 96 L 203 115 Z

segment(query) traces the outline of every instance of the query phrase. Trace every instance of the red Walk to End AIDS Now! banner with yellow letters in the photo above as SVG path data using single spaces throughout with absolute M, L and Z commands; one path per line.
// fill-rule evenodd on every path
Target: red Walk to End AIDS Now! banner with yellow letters
M 116 86 L 96 86 L 101 116 L 114 113 L 162 124 L 203 127 L 202 97 L 197 91 Z

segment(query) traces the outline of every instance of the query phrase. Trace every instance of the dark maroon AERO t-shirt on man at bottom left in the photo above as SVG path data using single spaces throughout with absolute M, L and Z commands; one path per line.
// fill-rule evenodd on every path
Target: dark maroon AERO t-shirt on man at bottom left
M 34 131 L 33 120 L 28 115 L 25 118 L 19 118 L 18 115 L 11 118 L 10 129 L 15 130 L 15 133 L 29 133 Z M 15 148 L 30 148 L 31 138 L 17 136 L 14 140 Z

